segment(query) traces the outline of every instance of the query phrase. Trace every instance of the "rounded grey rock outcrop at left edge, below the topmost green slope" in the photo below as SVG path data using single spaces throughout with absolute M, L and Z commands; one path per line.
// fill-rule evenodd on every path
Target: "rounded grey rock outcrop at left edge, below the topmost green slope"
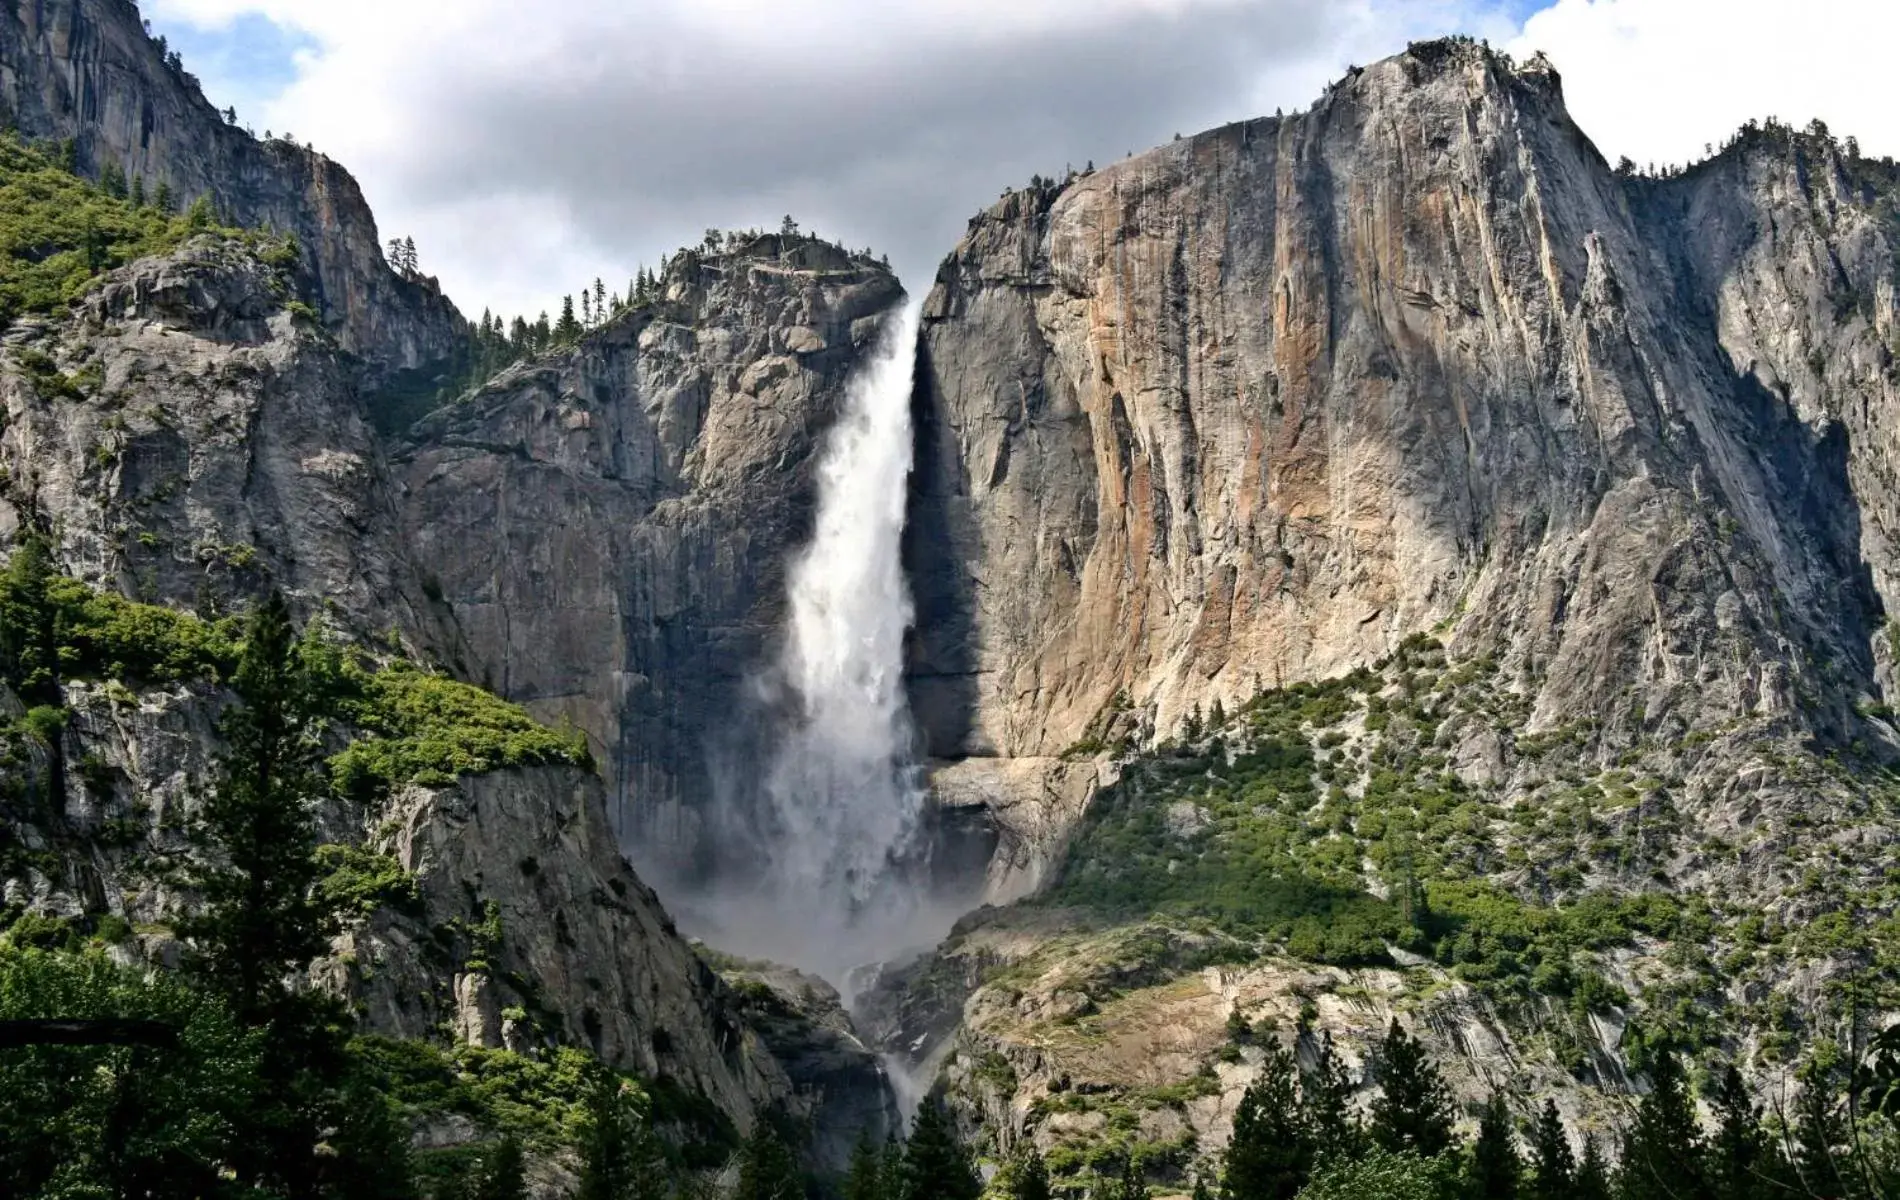
M 70 573 L 141 600 L 218 611 L 270 579 L 350 632 L 448 651 L 353 365 L 294 287 L 207 235 L 8 330 L 0 532 L 42 520 Z

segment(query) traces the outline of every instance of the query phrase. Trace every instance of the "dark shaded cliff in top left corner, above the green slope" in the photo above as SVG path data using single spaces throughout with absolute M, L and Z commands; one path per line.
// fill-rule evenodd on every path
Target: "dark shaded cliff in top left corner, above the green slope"
M 148 36 L 131 0 L 0 4 L 0 127 L 72 139 L 87 175 L 108 163 L 182 209 L 200 196 L 247 228 L 296 235 L 321 313 L 374 374 L 454 355 L 466 323 L 433 279 L 390 270 L 355 178 L 308 146 L 228 123 Z

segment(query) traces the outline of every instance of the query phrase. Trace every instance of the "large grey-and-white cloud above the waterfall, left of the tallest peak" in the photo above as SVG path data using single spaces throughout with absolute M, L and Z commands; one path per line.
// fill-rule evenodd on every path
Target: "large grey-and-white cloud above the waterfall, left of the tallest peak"
M 348 165 L 471 309 L 553 308 L 707 226 L 808 228 L 927 285 L 1005 186 L 1307 104 L 1493 0 L 146 0 L 308 36 L 260 112 Z M 1505 32 L 1492 21 L 1495 32 Z M 218 80 L 207 78 L 217 99 Z

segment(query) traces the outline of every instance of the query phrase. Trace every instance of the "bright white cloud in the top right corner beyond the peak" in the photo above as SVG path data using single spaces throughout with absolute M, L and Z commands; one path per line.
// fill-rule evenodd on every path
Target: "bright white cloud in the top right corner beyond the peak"
M 1509 49 L 1550 55 L 1606 156 L 1661 165 L 1765 116 L 1900 154 L 1900 110 L 1881 99 L 1896 44 L 1892 0 L 1558 0 Z

